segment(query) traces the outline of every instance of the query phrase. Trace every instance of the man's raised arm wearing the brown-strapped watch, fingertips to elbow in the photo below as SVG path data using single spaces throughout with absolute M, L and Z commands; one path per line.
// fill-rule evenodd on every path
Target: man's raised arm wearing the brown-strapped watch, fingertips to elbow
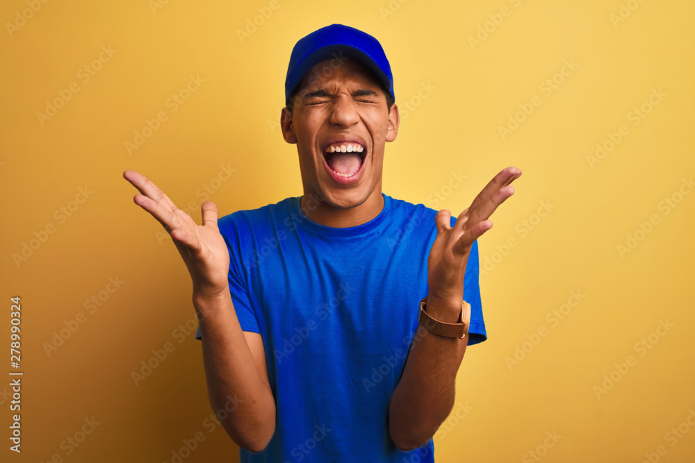
M 427 313 L 445 323 L 456 323 L 461 313 L 466 264 L 473 242 L 492 227 L 498 205 L 514 193 L 509 185 L 521 170 L 507 167 L 476 196 L 450 226 L 451 212 L 435 217 L 437 235 L 427 260 Z M 419 301 L 413 301 L 413 310 Z M 402 451 L 427 444 L 454 405 L 456 373 L 466 352 L 464 339 L 441 337 L 420 323 L 403 375 L 389 403 L 389 433 Z

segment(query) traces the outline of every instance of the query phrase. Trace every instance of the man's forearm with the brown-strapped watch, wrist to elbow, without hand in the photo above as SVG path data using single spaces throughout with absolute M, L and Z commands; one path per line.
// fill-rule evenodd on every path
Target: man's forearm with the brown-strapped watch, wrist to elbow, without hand
M 461 300 L 434 301 L 428 296 L 427 313 L 455 323 Z M 454 405 L 456 374 L 468 335 L 441 337 L 418 325 L 400 382 L 389 403 L 389 432 L 400 450 L 427 444 Z

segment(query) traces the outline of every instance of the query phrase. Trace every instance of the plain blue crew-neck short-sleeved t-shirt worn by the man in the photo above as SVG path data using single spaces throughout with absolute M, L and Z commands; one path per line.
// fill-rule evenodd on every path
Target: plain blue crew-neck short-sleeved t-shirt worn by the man
M 395 448 L 387 419 L 427 296 L 436 210 L 382 195 L 377 217 L 347 228 L 311 221 L 300 197 L 219 219 L 231 300 L 242 330 L 263 337 L 277 412 L 268 446 L 241 449 L 241 462 L 434 462 L 432 439 Z M 477 243 L 464 299 L 468 344 L 482 342 Z

